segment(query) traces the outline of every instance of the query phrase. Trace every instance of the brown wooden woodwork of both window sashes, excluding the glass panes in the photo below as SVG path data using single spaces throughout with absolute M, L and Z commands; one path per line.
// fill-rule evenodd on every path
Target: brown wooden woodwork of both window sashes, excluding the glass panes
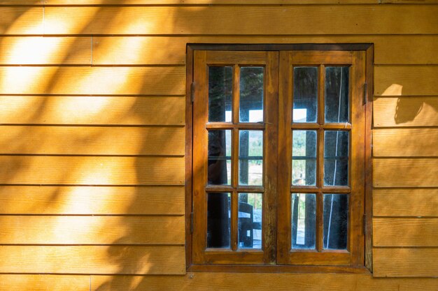
M 365 145 L 363 140 L 354 139 L 353 136 L 362 136 L 365 130 L 365 109 L 360 98 L 360 87 L 365 82 L 365 52 L 361 51 L 271 51 L 271 52 L 234 52 L 234 51 L 213 51 L 195 50 L 194 52 L 194 81 L 195 81 L 195 102 L 193 103 L 193 209 L 194 209 L 194 232 L 192 236 L 192 262 L 195 264 L 320 264 L 320 265 L 344 265 L 363 266 L 364 261 L 364 234 L 362 234 L 362 216 L 364 213 L 364 172 L 365 161 L 350 161 L 350 186 L 292 186 L 291 177 L 291 135 L 292 129 L 317 130 L 318 135 L 327 129 L 343 129 L 351 131 L 351 151 L 349 156 L 365 156 Z M 292 124 L 291 122 L 291 99 L 292 87 L 290 78 L 292 66 L 294 65 L 348 65 L 351 66 L 351 123 L 347 124 L 324 124 L 324 107 L 321 106 L 323 96 L 318 96 L 318 123 L 316 124 Z M 233 122 L 209 123 L 208 118 L 208 66 L 234 66 L 241 65 L 264 66 L 266 80 L 269 89 L 264 89 L 264 123 L 248 124 Z M 278 68 L 279 66 L 279 68 Z M 238 69 L 236 70 L 238 71 Z M 320 74 L 321 74 L 320 70 Z M 236 77 L 236 76 L 234 76 Z M 235 80 L 239 80 L 236 78 Z M 320 84 L 320 86 L 323 86 Z M 234 84 L 234 96 L 239 90 L 239 84 Z M 323 87 L 318 87 L 320 95 L 323 94 Z M 233 98 L 233 114 L 238 115 L 236 110 L 238 101 Z M 322 113 L 321 113 L 322 111 Z M 238 121 L 233 117 L 233 121 Z M 263 130 L 264 131 L 264 188 L 243 186 L 206 186 L 206 133 L 207 129 L 231 129 L 234 131 L 234 138 L 237 137 L 239 129 Z M 289 133 L 288 133 L 289 132 Z M 278 140 L 276 142 L 269 142 Z M 323 138 L 318 136 L 319 150 Z M 238 142 L 234 141 L 234 147 Z M 290 147 L 289 147 L 290 146 Z M 269 148 L 268 148 L 269 147 Z M 354 152 L 353 152 L 354 151 Z M 234 153 L 236 153 L 234 149 Z M 318 154 L 318 153 L 317 153 Z M 319 153 L 320 154 L 320 153 Z M 232 154 L 236 161 L 238 156 Z M 320 162 L 318 162 L 318 167 Z M 353 166 L 354 165 L 354 166 Z M 236 162 L 234 162 L 236 167 Z M 285 171 L 285 169 L 287 171 Z M 288 174 L 285 174 L 288 172 Z M 321 172 L 321 171 L 320 171 Z M 280 174 L 281 173 L 281 174 Z M 232 170 L 234 181 L 238 172 Z M 278 174 L 278 175 L 277 175 Z M 320 177 L 318 176 L 318 179 Z M 356 181 L 356 180 L 360 181 Z M 277 181 L 278 183 L 272 183 Z M 206 249 L 206 193 L 229 191 L 232 193 L 232 244 L 236 244 L 236 214 L 237 214 L 237 193 L 254 192 L 263 193 L 263 223 L 262 223 L 262 245 L 263 250 L 236 250 L 232 246 L 229 250 Z M 348 248 L 346 251 L 323 250 L 322 239 L 318 243 L 317 251 L 291 250 L 290 248 L 290 193 L 347 193 L 350 198 L 349 211 L 350 222 L 348 226 Z M 322 207 L 322 199 L 318 200 L 319 209 Z M 319 210 L 318 209 L 318 210 Z M 278 213 L 278 214 L 277 214 Z M 281 214 L 281 215 L 280 215 Z M 283 214 L 287 214 L 284 217 Z M 319 219 L 322 217 L 322 210 L 317 211 Z M 284 219 L 283 219 L 284 218 Z M 276 223 L 278 221 L 278 223 Z M 234 228 L 233 228 L 234 227 Z M 318 227 L 318 233 L 322 235 L 322 223 Z M 234 236 L 234 237 L 233 237 Z M 234 251 L 233 251 L 234 249 Z

